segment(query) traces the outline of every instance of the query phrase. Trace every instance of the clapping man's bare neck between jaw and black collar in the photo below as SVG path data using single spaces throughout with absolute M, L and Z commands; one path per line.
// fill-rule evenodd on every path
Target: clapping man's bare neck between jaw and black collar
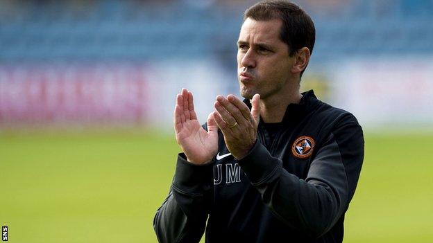
M 260 100 L 260 116 L 265 123 L 280 123 L 284 118 L 287 106 L 298 104 L 302 95 L 299 93 L 299 84 L 287 86 L 278 93 Z

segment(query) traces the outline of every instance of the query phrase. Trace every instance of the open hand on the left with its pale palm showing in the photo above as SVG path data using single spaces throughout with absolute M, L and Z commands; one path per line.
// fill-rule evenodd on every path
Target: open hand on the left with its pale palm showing
M 176 98 L 174 129 L 176 141 L 189 161 L 198 164 L 206 163 L 217 154 L 217 125 L 210 116 L 207 119 L 208 132 L 201 127 L 194 111 L 192 93 L 186 89 L 182 89 L 182 93 Z

